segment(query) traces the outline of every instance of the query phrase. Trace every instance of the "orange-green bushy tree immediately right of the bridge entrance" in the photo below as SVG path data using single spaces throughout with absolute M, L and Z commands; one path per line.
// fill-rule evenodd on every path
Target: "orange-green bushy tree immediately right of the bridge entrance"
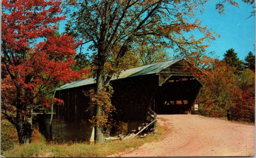
M 218 111 L 232 109 L 236 95 L 231 93 L 231 90 L 238 85 L 238 75 L 234 74 L 235 70 L 234 67 L 228 66 L 226 62 L 215 60 L 198 99 L 198 102 L 202 103 L 204 108 Z M 212 116 L 218 115 L 221 114 L 212 114 Z

